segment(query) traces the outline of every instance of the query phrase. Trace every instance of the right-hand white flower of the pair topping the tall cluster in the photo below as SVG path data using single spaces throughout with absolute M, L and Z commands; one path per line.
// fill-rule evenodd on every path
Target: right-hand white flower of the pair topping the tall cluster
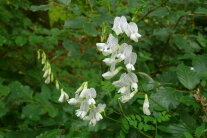
M 124 32 L 135 42 L 138 42 L 138 38 L 141 37 L 141 35 L 138 33 L 138 27 L 134 22 L 130 22 L 127 26 L 125 26 Z

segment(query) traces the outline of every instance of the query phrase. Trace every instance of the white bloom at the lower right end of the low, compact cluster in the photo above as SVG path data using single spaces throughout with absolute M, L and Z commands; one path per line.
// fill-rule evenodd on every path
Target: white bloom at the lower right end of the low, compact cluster
M 99 104 L 97 107 L 90 110 L 89 115 L 86 116 L 84 120 L 88 120 L 90 125 L 95 126 L 97 121 L 103 119 L 101 112 L 104 111 L 105 107 L 105 104 Z

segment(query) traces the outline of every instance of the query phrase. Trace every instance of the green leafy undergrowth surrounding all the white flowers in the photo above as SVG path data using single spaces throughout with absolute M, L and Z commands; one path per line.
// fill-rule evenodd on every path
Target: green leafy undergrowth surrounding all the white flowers
M 140 94 L 126 104 L 102 80 L 107 67 L 95 46 L 122 15 L 142 35 L 128 42 L 138 55 Z M 206 137 L 206 34 L 205 0 L 0 0 L 0 137 Z M 96 88 L 107 107 L 95 127 L 58 103 L 38 49 L 70 96 L 83 81 Z M 151 116 L 142 112 L 144 93 Z

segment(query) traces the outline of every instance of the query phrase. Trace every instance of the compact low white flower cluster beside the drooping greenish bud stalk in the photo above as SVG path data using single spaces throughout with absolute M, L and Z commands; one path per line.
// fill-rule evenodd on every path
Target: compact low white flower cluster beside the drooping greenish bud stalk
M 98 104 L 96 106 L 96 90 L 88 88 L 88 82 L 84 82 L 75 92 L 75 98 L 68 100 L 71 105 L 79 106 L 76 115 L 83 120 L 89 121 L 89 124 L 96 125 L 96 122 L 103 119 L 101 112 L 104 111 L 106 105 Z

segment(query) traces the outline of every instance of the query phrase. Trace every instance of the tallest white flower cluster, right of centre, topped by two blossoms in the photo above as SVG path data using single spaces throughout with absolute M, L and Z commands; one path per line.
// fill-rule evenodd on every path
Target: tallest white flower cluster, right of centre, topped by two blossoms
M 126 33 L 135 42 L 141 37 L 137 25 L 134 22 L 127 23 L 124 16 L 114 19 L 112 30 L 117 35 Z M 134 65 L 137 60 L 137 54 L 132 51 L 133 47 L 127 43 L 119 45 L 118 39 L 112 34 L 109 34 L 106 43 L 97 43 L 96 46 L 104 56 L 110 55 L 110 57 L 103 60 L 106 65 L 110 66 L 109 71 L 102 74 L 105 79 L 111 79 L 115 76 L 122 69 L 122 67 L 116 68 L 116 65 L 122 61 L 124 62 L 127 73 L 123 73 L 118 81 L 113 82 L 113 85 L 119 88 L 118 93 L 122 95 L 119 100 L 123 103 L 129 101 L 138 91 L 138 79 L 136 74 L 132 72 L 135 70 Z

